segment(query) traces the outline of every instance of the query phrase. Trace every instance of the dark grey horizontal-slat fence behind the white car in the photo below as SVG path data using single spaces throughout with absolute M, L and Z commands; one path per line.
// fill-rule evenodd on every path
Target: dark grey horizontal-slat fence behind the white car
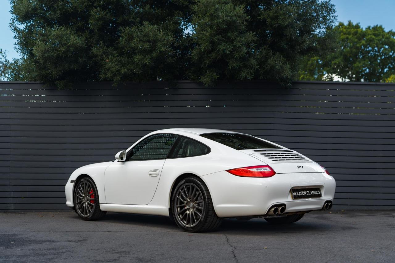
M 73 170 L 113 160 L 150 131 L 245 132 L 300 151 L 337 181 L 341 209 L 395 208 L 395 85 L 262 82 L 90 83 L 73 90 L 0 82 L 0 209 L 67 209 Z

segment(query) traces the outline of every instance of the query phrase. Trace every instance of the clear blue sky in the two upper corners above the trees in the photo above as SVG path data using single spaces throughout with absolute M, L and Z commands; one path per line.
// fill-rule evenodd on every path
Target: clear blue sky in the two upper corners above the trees
M 332 3 L 340 22 L 359 22 L 363 28 L 381 24 L 387 31 L 395 30 L 395 0 L 332 0 Z M 15 39 L 8 27 L 9 9 L 8 0 L 0 0 L 0 48 L 8 51 L 7 57 L 11 60 L 19 55 L 14 50 Z

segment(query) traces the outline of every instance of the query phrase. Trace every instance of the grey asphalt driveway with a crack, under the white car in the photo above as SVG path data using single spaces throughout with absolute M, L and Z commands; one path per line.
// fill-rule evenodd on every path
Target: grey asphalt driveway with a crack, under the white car
M 227 219 L 193 234 L 161 216 L 0 213 L 0 261 L 394 262 L 395 211 L 319 211 L 288 226 Z

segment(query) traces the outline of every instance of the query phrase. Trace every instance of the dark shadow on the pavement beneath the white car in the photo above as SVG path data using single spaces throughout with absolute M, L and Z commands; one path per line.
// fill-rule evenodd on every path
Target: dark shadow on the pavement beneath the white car
M 112 224 L 127 224 L 133 226 L 145 226 L 149 228 L 158 228 L 162 231 L 181 231 L 167 216 L 150 216 L 136 215 L 126 213 L 107 213 L 102 220 Z M 222 225 L 213 233 L 221 234 L 243 234 L 243 235 L 261 235 L 263 233 L 306 233 L 308 231 L 326 231 L 333 230 L 333 224 L 323 223 L 322 221 L 312 222 L 303 218 L 293 224 L 273 225 L 267 223 L 264 219 L 252 219 L 248 221 L 239 221 L 236 219 L 226 218 Z

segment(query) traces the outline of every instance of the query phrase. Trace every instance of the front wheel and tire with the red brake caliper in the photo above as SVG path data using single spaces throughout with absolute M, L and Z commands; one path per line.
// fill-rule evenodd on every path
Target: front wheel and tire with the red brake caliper
M 100 210 L 98 189 L 90 177 L 76 182 L 74 189 L 74 209 L 82 220 L 100 220 L 107 212 Z

